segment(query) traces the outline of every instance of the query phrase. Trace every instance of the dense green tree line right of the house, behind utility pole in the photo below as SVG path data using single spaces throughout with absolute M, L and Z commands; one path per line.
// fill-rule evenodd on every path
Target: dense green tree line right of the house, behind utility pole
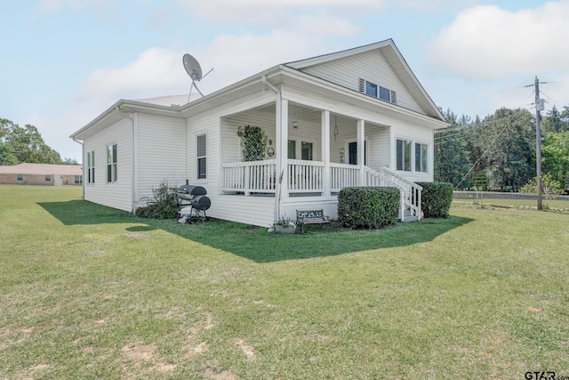
M 535 183 L 536 125 L 527 109 L 498 109 L 484 119 L 443 111 L 435 134 L 435 180 L 458 190 L 519 191 Z M 544 185 L 569 188 L 569 107 L 541 117 Z

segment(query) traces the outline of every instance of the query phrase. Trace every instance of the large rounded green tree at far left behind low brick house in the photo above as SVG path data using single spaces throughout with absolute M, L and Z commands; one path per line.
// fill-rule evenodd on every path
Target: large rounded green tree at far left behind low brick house
M 36 164 L 61 164 L 60 153 L 52 150 L 34 125 L 20 125 L 7 119 L 0 119 L 0 137 L 18 162 Z

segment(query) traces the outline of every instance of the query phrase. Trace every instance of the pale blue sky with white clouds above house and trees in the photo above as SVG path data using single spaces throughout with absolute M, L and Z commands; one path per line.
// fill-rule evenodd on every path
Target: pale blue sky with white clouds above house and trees
M 397 4 L 395 4 L 397 3 Z M 0 117 L 68 136 L 119 99 L 203 93 L 278 63 L 393 38 L 437 106 L 485 117 L 569 105 L 569 0 L 20 0 L 0 4 Z

